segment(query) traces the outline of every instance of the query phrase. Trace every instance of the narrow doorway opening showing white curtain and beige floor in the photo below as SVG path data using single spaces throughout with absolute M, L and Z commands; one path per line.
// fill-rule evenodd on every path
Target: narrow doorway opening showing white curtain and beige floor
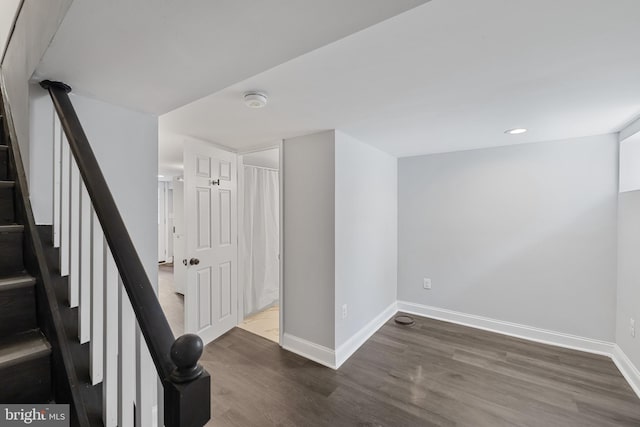
M 238 163 L 238 327 L 280 343 L 280 147 Z

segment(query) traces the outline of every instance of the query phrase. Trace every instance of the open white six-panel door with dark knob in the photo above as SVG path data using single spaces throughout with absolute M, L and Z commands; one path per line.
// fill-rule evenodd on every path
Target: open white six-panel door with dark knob
M 186 141 L 184 195 L 185 332 L 207 344 L 237 324 L 236 155 Z

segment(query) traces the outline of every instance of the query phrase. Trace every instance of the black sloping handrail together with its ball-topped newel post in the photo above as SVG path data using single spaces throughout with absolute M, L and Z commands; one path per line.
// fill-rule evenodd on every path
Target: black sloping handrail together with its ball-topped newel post
M 202 426 L 210 418 L 210 377 L 198 364 L 203 343 L 186 334 L 174 338 L 140 257 L 131 241 L 100 165 L 69 99 L 71 87 L 45 80 L 80 175 L 111 249 L 124 288 L 165 391 L 167 427 Z

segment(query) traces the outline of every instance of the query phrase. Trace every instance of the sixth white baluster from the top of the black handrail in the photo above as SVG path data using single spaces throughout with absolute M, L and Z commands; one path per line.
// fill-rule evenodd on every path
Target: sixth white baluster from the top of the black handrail
M 118 269 L 107 246 L 105 256 L 102 420 L 105 427 L 115 427 L 118 424 Z

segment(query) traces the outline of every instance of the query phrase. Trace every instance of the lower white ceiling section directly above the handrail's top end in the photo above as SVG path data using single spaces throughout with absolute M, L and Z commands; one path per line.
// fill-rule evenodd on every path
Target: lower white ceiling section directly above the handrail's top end
M 425 1 L 74 1 L 35 77 L 162 114 Z

